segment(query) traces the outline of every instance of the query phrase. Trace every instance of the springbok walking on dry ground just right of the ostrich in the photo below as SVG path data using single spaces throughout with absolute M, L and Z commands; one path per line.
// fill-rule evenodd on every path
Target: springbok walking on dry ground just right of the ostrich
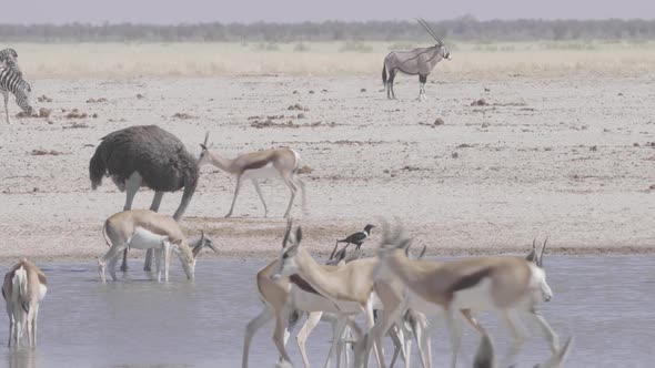
M 249 152 L 239 155 L 236 159 L 230 160 L 221 156 L 215 151 L 211 151 L 206 147 L 206 141 L 209 139 L 209 132 L 204 136 L 204 143 L 200 146 L 202 152 L 200 153 L 200 160 L 198 161 L 199 166 L 212 164 L 229 174 L 236 176 L 236 187 L 234 190 L 234 197 L 232 198 L 232 205 L 230 212 L 225 217 L 232 216 L 234 211 L 234 204 L 239 196 L 239 191 L 243 181 L 250 180 L 254 190 L 256 191 L 262 204 L 264 205 L 264 217 L 269 215 L 269 209 L 262 191 L 260 188 L 259 181 L 269 177 L 280 177 L 282 182 L 291 191 L 291 198 L 289 200 L 289 206 L 284 213 L 284 217 L 289 217 L 291 213 L 291 206 L 293 200 L 295 200 L 295 193 L 300 190 L 302 192 L 302 207 L 303 212 L 306 213 L 306 196 L 305 196 L 305 184 L 298 176 L 298 170 L 300 167 L 300 154 L 292 149 L 281 147 L 256 152 Z

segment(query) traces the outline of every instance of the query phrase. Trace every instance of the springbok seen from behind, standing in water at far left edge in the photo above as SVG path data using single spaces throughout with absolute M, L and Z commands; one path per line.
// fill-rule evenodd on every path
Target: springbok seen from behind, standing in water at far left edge
M 37 346 L 37 318 L 39 303 L 46 297 L 46 274 L 26 258 L 20 259 L 4 275 L 2 297 L 7 301 L 9 315 L 9 343 L 7 346 L 19 346 L 24 328 L 31 347 Z

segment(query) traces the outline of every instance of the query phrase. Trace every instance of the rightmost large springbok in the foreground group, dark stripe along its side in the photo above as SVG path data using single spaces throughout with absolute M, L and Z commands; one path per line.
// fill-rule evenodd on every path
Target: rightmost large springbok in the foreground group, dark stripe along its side
M 503 367 L 514 364 L 525 340 L 515 326 L 516 311 L 540 326 L 550 343 L 553 357 L 560 354 L 558 337 L 538 311 L 540 304 L 550 301 L 553 297 L 543 267 L 547 241 L 538 254 L 536 243 L 533 242 L 532 252 L 525 258 L 495 256 L 432 264 L 426 260 L 410 260 L 402 251 L 409 243 L 410 239 L 400 229 L 392 235 L 385 225 L 377 254 L 380 266 L 375 274 L 397 277 L 406 285 L 410 297 L 422 301 L 425 310 L 445 310 L 453 345 L 452 367 L 456 367 L 462 335 L 462 320 L 457 318 L 457 311 L 481 334 L 484 329 L 473 318 L 480 311 L 495 310 L 506 321 L 514 343 L 506 354 Z

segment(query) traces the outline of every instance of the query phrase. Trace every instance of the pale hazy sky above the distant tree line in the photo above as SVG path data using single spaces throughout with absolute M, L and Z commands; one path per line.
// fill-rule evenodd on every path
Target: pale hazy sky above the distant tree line
M 655 17 L 648 0 L 21 0 L 3 1 L 0 23 L 300 22 L 444 20 L 472 14 L 490 19 L 632 19 Z

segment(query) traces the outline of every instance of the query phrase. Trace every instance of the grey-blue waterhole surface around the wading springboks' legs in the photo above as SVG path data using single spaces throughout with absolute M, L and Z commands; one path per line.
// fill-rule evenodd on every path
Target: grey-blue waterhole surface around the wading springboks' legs
M 653 366 L 654 256 L 550 256 L 545 264 L 554 299 L 543 313 L 562 341 L 576 338 L 567 367 Z M 264 262 L 200 260 L 193 283 L 179 262 L 173 265 L 169 284 L 158 284 L 132 262 L 120 282 L 102 285 L 94 262 L 42 264 L 48 295 L 39 316 L 39 347 L 33 352 L 0 348 L 0 366 L 240 367 L 245 324 L 262 309 L 254 275 Z M 496 328 L 496 317 L 485 315 L 482 323 L 492 328 L 498 352 L 504 351 L 507 334 Z M 435 321 L 436 367 L 450 361 L 444 325 Z M 254 338 L 251 367 L 275 362 L 272 329 L 271 323 Z M 4 316 L 0 330 L 6 345 Z M 331 338 L 324 324 L 310 337 L 313 366 L 322 366 Z M 477 336 L 466 328 L 462 367 L 470 366 L 476 344 Z M 293 338 L 288 349 L 300 367 Z M 547 355 L 541 335 L 533 334 L 518 367 L 532 367 Z

